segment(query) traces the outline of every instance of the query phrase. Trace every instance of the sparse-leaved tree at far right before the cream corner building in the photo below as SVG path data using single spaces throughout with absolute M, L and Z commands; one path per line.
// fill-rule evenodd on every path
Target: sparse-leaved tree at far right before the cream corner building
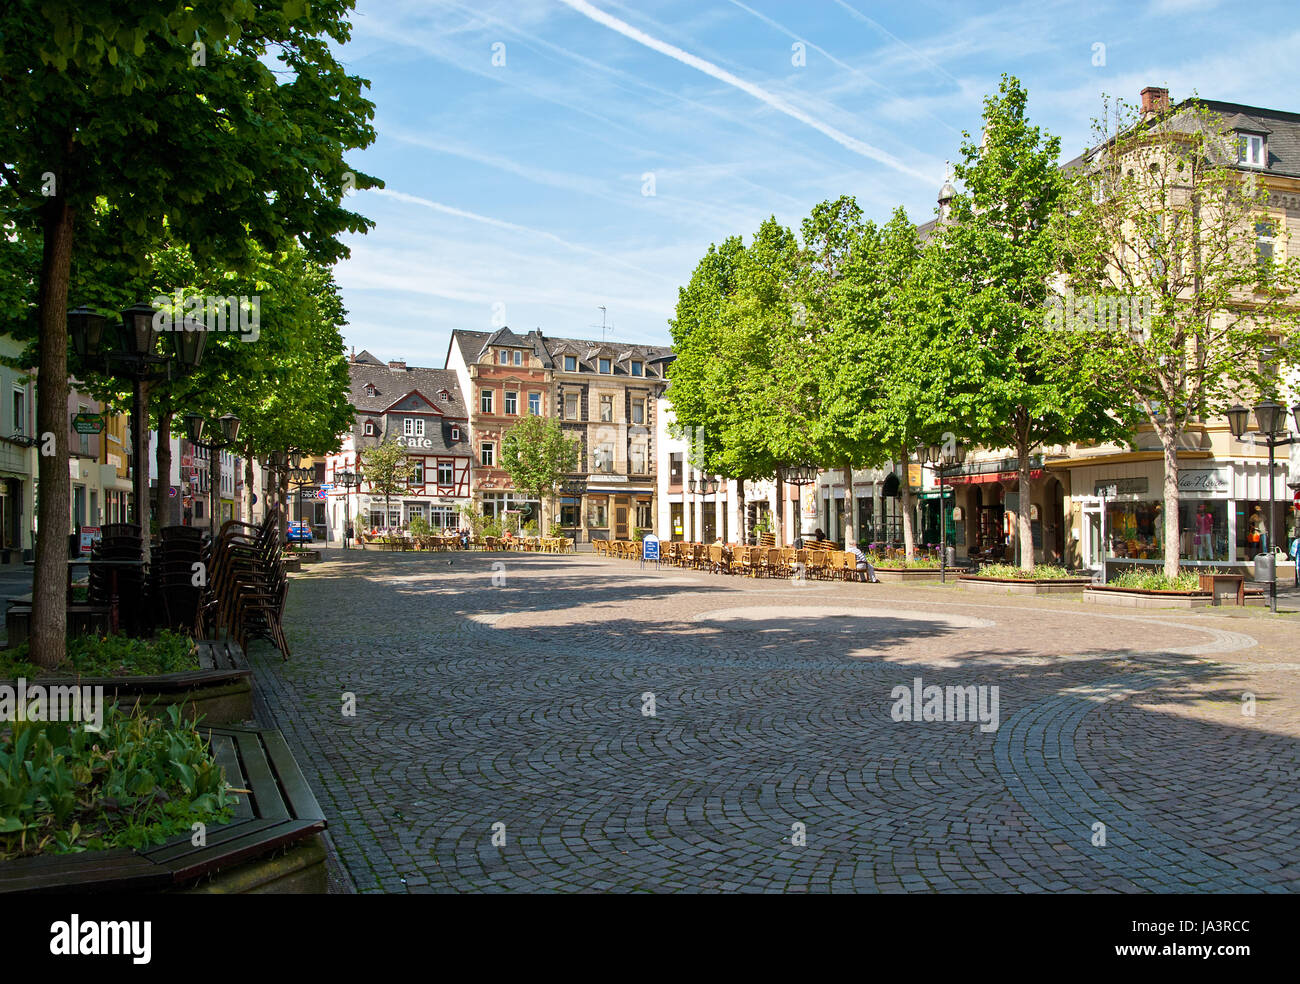
M 1279 259 L 1284 224 L 1265 181 L 1238 165 L 1221 113 L 1188 103 L 1143 120 L 1119 103 L 1102 118 L 1060 225 L 1071 295 L 1054 313 L 1058 328 L 1089 329 L 1088 343 L 1114 356 L 1130 404 L 1160 439 L 1173 580 L 1188 424 L 1244 394 L 1277 396 L 1295 361 L 1279 341 L 1300 321 L 1300 257 Z M 1261 361 L 1270 350 L 1275 357 Z

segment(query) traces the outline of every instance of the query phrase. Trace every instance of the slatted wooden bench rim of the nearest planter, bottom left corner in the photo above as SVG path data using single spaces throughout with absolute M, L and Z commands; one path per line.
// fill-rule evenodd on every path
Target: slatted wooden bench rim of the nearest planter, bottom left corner
M 311 786 L 278 731 L 213 728 L 226 779 L 248 789 L 196 848 L 183 833 L 144 850 L 114 848 L 0 862 L 0 894 L 287 893 L 328 890 L 325 829 Z

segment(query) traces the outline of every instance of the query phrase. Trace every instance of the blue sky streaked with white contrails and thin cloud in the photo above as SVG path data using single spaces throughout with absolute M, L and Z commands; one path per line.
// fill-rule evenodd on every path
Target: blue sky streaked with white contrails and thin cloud
M 768 214 L 797 229 L 848 194 L 870 218 L 904 205 L 930 220 L 945 161 L 1004 71 L 1063 159 L 1104 92 L 1136 101 L 1158 84 L 1175 100 L 1300 110 L 1295 12 L 359 0 L 342 56 L 373 83 L 378 139 L 351 160 L 387 187 L 351 203 L 377 225 L 348 239 L 337 272 L 346 341 L 441 367 L 452 329 L 503 317 L 599 337 L 603 304 L 610 338 L 667 343 L 677 287 L 708 244 Z

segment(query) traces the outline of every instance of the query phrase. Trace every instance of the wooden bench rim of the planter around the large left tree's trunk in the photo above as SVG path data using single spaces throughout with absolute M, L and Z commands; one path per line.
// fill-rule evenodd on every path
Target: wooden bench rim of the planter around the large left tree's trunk
M 235 642 L 199 641 L 199 669 L 155 676 L 38 677 L 42 686 L 103 686 L 104 699 L 124 711 L 139 702 L 151 714 L 165 714 L 172 705 L 204 724 L 234 724 L 252 719 L 252 671 L 244 667 Z M 5 681 L 17 686 L 17 681 Z

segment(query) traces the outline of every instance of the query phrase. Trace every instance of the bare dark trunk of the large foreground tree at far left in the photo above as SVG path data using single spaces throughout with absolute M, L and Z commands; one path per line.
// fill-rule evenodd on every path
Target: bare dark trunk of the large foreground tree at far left
M 42 667 L 57 666 L 66 651 L 68 499 L 72 490 L 68 473 L 68 278 L 73 231 L 73 209 L 68 199 L 52 198 L 46 204 L 42 230 L 36 383 L 40 493 L 31 585 L 31 660 Z

